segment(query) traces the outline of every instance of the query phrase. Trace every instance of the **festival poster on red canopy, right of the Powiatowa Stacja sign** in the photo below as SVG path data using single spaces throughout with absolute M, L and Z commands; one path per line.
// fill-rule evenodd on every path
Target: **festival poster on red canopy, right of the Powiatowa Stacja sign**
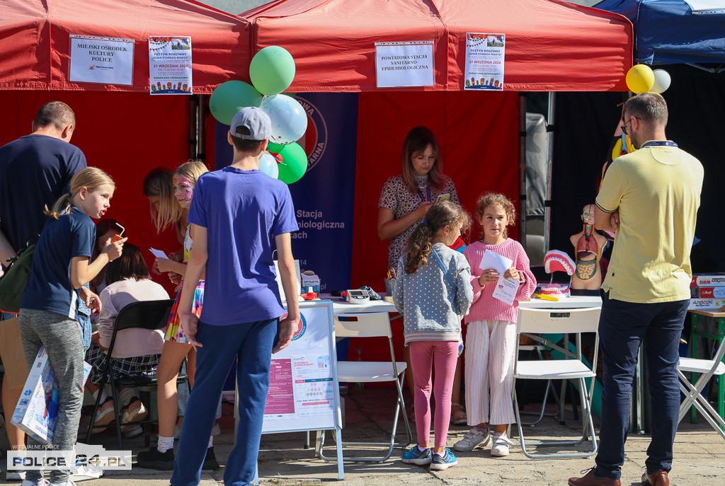
M 505 34 L 466 33 L 464 89 L 503 91 Z

